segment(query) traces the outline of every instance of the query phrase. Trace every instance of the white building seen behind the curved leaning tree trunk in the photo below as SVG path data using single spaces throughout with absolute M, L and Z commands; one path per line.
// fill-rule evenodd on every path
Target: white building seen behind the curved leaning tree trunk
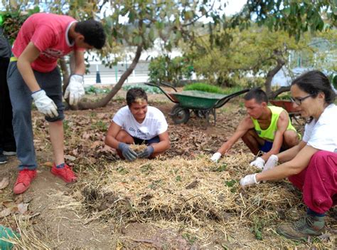
M 162 56 L 166 51 L 161 49 L 161 44 L 158 42 L 155 42 L 154 48 L 151 48 L 147 51 L 143 51 L 141 53 L 141 57 L 139 58 L 139 63 L 137 63 L 136 68 L 132 72 L 131 75 L 129 75 L 129 78 L 125 81 L 124 84 L 127 83 L 144 83 L 149 80 L 149 63 L 151 61 L 151 58 L 156 58 L 157 56 Z M 134 48 L 135 50 L 135 48 Z M 97 72 L 100 72 L 100 80 L 101 84 L 116 84 L 119 80 L 119 78 L 122 76 L 122 74 L 127 70 L 129 65 L 132 63 L 132 60 L 134 59 L 134 52 L 129 51 L 125 54 L 124 61 L 121 61 L 117 64 L 117 66 L 112 66 L 112 68 L 105 67 L 102 62 L 100 61 L 100 58 L 97 57 L 95 53 L 89 54 L 89 73 L 87 73 L 84 77 L 84 83 L 85 85 L 94 85 L 97 81 Z M 176 56 L 182 56 L 181 51 L 173 50 L 171 53 L 169 53 L 171 58 L 175 58 Z

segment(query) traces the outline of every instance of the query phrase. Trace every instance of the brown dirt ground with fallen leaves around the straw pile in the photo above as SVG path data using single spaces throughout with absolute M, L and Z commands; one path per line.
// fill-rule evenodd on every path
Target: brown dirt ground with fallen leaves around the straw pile
M 85 209 L 80 198 L 83 183 L 91 172 L 99 173 L 104 162 L 114 164 L 118 159 L 114 150 L 104 145 L 104 136 L 112 115 L 125 105 L 124 95 L 121 91 L 105 108 L 65 112 L 65 157 L 79 177 L 74 184 L 65 184 L 50 174 L 53 156 L 47 124 L 33 111 L 34 144 L 40 164 L 38 177 L 27 192 L 14 195 L 12 187 L 18 160 L 10 157 L 8 163 L 0 166 L 0 182 L 4 177 L 9 178 L 8 186 L 0 189 L 0 224 L 21 232 L 22 239 L 16 249 L 254 249 L 257 239 L 248 226 L 233 225 L 225 233 L 215 231 L 214 239 L 205 244 L 182 233 L 184 222 L 125 224 L 96 217 L 99 211 L 95 214 Z M 186 124 L 174 125 L 169 117 L 173 103 L 164 95 L 149 95 L 149 104 L 159 108 L 169 122 L 171 148 L 162 160 L 177 155 L 184 159 L 193 159 L 200 153 L 210 155 L 228 139 L 245 115 L 240 98 L 235 98 L 217 110 L 216 125 L 207 126 L 205 120 L 195 116 Z M 250 152 L 242 142 L 237 142 L 229 154 L 238 153 Z M 336 234 L 336 214 L 331 212 L 331 215 L 334 217 L 331 230 Z M 275 248 L 283 247 L 280 244 Z M 306 249 L 308 245 L 294 244 L 295 247 Z M 266 248 L 273 247 L 267 244 Z

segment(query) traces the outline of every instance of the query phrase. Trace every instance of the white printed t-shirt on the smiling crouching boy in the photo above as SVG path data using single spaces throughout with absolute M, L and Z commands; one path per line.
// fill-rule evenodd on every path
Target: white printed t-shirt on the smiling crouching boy
M 143 123 L 137 122 L 129 110 L 129 106 L 119 109 L 112 121 L 121 126 L 132 137 L 137 137 L 141 140 L 150 140 L 165 132 L 169 127 L 161 110 L 151 106 L 147 106 Z

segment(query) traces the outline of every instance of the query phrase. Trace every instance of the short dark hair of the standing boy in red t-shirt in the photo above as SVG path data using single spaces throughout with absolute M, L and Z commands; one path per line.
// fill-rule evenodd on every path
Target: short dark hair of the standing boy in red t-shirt
M 105 44 L 105 31 L 102 24 L 93 19 L 79 21 L 75 25 L 75 31 L 85 37 L 85 43 L 101 49 Z

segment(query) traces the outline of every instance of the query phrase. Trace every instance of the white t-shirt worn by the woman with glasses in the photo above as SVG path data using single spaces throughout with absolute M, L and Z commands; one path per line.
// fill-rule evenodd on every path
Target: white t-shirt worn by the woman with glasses
M 318 150 L 337 152 L 337 106 L 328 105 L 319 120 L 312 120 L 304 128 L 304 142 Z

